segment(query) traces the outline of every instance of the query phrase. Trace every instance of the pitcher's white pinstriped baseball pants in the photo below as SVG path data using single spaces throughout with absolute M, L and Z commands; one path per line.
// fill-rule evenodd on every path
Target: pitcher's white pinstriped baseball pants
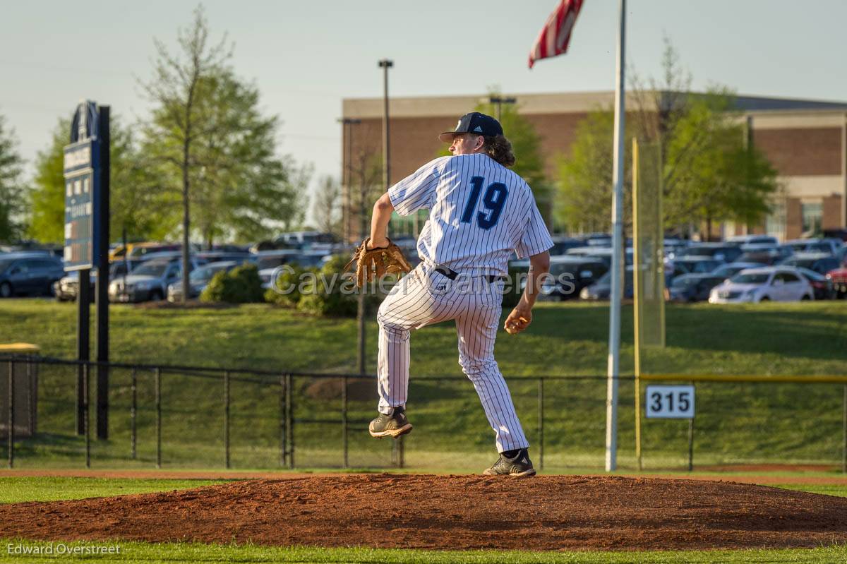
M 456 280 L 421 263 L 398 282 L 379 307 L 379 412 L 406 406 L 409 387 L 409 334 L 432 323 L 456 320 L 459 365 L 473 382 L 498 452 L 526 448 L 512 395 L 494 359 L 501 292 L 482 277 Z

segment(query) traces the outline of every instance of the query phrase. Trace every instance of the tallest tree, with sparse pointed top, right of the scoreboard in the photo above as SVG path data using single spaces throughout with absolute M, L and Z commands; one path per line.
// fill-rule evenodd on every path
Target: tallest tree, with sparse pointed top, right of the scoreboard
M 177 43 L 177 52 L 169 53 L 155 41 L 158 57 L 143 84 L 154 105 L 143 146 L 158 189 L 182 204 L 187 287 L 192 217 L 208 243 L 267 235 L 276 224 L 302 218 L 309 171 L 276 157 L 278 119 L 263 116 L 256 86 L 235 77 L 226 36 L 210 41 L 202 7 L 179 30 Z

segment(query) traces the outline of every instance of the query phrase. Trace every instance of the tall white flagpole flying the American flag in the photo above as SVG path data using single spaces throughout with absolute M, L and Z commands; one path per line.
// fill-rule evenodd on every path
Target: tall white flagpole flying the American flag
M 615 86 L 615 149 L 612 196 L 612 296 L 609 302 L 609 363 L 606 372 L 606 472 L 617 469 L 617 377 L 620 374 L 621 296 L 623 294 L 623 69 L 626 66 L 626 0 L 620 0 L 621 29 L 617 36 L 617 85 Z

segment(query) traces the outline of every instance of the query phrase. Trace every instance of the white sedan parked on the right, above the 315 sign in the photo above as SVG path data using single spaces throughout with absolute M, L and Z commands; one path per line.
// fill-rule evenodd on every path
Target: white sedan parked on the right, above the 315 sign
M 815 290 L 794 268 L 748 268 L 711 290 L 709 303 L 812 300 Z

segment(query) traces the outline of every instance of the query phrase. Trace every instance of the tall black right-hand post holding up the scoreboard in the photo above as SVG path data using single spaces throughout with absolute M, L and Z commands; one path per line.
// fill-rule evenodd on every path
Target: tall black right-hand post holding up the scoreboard
M 97 439 L 108 439 L 108 236 L 109 236 L 109 107 L 99 107 L 100 141 L 99 241 L 97 246 Z

